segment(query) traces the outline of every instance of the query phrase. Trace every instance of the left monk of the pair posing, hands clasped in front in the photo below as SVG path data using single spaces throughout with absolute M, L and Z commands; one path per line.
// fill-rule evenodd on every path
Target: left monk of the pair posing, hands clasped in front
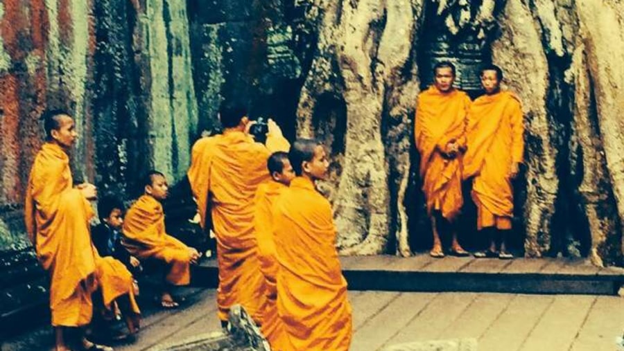
M 439 62 L 433 68 L 433 86 L 418 96 L 415 118 L 416 147 L 420 153 L 420 177 L 431 218 L 433 248 L 429 255 L 443 258 L 444 251 L 437 224 L 445 219 L 451 224 L 462 205 L 462 153 L 466 151 L 466 115 L 470 98 L 455 89 L 455 66 Z M 453 226 L 452 255 L 467 256 Z

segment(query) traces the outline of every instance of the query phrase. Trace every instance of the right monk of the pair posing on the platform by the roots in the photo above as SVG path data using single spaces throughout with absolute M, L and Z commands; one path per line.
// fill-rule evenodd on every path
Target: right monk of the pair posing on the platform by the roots
M 512 180 L 523 160 L 523 120 L 519 99 L 501 91 L 503 71 L 486 66 L 481 71 L 485 95 L 472 103 L 468 114 L 464 179 L 472 179 L 472 199 L 477 206 L 477 229 L 489 237 L 489 249 L 475 257 L 513 258 L 505 239 L 512 228 Z M 500 238 L 497 251 L 496 237 Z

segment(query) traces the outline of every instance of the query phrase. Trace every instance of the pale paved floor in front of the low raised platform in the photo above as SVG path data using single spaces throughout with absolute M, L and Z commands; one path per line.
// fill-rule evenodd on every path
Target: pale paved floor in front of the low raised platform
M 115 350 L 146 350 L 219 330 L 214 289 L 186 289 L 184 308 L 146 306 L 135 341 Z M 411 341 L 466 339 L 480 351 L 614 351 L 624 331 L 624 298 L 587 295 L 413 293 L 350 291 L 353 351 Z M 49 350 L 52 334 L 40 327 L 3 344 L 3 351 Z

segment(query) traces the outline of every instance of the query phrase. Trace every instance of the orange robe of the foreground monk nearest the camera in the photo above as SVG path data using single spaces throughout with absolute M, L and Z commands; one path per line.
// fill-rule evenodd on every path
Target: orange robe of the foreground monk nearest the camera
M 297 177 L 279 197 L 273 219 L 284 350 L 349 350 L 352 311 L 329 201 Z

